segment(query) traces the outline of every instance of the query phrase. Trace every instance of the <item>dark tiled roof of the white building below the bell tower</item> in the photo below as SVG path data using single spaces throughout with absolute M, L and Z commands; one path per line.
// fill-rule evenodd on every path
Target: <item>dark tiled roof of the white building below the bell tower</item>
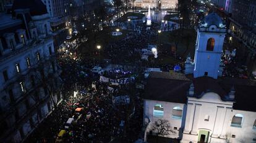
M 151 72 L 145 86 L 144 99 L 186 104 L 190 84 L 194 84 L 194 95 L 200 99 L 206 92 L 215 92 L 223 101 L 230 100 L 228 94 L 234 87 L 235 110 L 256 112 L 256 82 L 248 79 L 218 78 L 208 76 L 193 78 L 180 73 Z

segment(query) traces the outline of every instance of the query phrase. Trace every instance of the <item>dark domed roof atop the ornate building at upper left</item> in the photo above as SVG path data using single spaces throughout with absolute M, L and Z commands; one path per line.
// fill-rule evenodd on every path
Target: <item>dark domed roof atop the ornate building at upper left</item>
M 30 15 L 47 14 L 45 4 L 41 0 L 14 0 L 12 9 L 30 9 Z

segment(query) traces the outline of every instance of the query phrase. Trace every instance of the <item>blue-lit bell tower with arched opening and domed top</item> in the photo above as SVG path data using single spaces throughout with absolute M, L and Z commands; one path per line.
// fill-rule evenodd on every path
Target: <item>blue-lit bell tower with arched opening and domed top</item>
M 226 27 L 215 13 L 207 15 L 200 23 L 195 47 L 194 78 L 218 78 L 225 35 Z

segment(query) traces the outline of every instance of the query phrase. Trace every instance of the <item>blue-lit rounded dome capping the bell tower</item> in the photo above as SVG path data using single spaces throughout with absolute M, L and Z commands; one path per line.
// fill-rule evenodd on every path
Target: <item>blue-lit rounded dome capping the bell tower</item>
M 211 25 L 215 25 L 218 28 L 223 28 L 223 20 L 216 13 L 208 14 L 203 21 L 201 22 L 200 27 L 210 27 Z

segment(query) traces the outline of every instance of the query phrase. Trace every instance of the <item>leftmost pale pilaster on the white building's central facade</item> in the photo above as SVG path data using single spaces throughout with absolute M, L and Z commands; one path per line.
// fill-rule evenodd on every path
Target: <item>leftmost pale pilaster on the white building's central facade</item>
M 187 104 L 187 114 L 186 114 L 186 123 L 185 123 L 184 133 L 189 134 L 190 131 L 192 130 L 194 110 L 195 110 L 195 105 L 188 103 Z

